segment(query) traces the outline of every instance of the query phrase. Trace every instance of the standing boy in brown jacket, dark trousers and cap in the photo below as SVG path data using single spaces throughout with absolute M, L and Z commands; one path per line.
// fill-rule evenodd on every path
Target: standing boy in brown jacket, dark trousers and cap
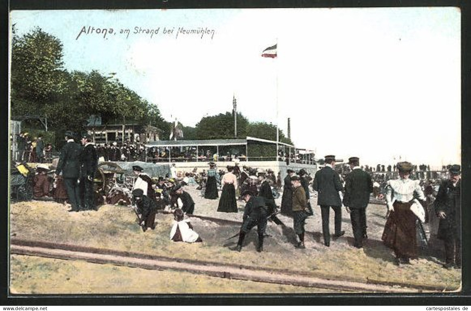
M 291 177 L 291 184 L 293 187 L 292 194 L 292 216 L 293 216 L 293 229 L 299 237 L 299 242 L 296 244 L 297 249 L 305 249 L 304 246 L 304 224 L 306 218 L 309 216 L 308 200 L 306 199 L 306 192 L 301 186 L 301 179 L 299 176 Z

